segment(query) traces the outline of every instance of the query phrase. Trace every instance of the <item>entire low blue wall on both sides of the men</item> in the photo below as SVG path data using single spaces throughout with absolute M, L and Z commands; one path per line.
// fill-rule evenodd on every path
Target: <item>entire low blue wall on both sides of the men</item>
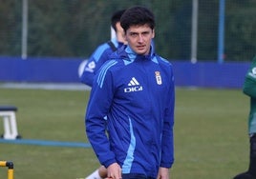
M 79 58 L 0 57 L 0 82 L 79 83 Z M 172 61 L 178 87 L 242 88 L 249 63 Z

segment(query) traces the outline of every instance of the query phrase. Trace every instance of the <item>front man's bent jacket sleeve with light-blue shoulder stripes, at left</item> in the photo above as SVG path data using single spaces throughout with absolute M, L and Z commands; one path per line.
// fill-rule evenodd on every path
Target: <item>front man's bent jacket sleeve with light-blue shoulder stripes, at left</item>
M 112 75 L 104 69 L 96 74 L 90 100 L 86 110 L 85 125 L 87 137 L 95 150 L 99 162 L 106 168 L 115 163 L 115 154 L 110 149 L 110 143 L 105 132 L 106 116 L 113 99 Z

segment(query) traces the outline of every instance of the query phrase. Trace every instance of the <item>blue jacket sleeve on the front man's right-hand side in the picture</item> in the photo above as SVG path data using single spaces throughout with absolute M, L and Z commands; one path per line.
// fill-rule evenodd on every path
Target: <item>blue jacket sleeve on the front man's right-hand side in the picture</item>
M 162 144 L 161 144 L 161 161 L 160 167 L 171 168 L 174 163 L 174 109 L 175 109 L 175 86 L 174 76 L 171 69 L 169 76 L 169 90 L 166 96 L 166 108 L 163 119 Z

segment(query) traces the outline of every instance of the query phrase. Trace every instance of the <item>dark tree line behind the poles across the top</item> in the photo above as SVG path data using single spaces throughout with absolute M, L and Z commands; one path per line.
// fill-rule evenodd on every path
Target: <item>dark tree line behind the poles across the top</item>
M 247 61 L 256 50 L 256 1 L 225 0 L 227 61 Z M 156 49 L 168 59 L 188 60 L 192 0 L 29 0 L 29 56 L 88 57 L 110 38 L 113 11 L 134 5 L 156 14 Z M 0 0 L 0 55 L 20 56 L 22 0 Z M 198 59 L 216 60 L 219 0 L 199 1 Z

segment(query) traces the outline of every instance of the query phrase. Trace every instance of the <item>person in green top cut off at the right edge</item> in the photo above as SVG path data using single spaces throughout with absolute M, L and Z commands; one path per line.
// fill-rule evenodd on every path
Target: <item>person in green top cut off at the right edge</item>
M 250 97 L 248 134 L 250 141 L 249 168 L 234 179 L 256 179 L 256 56 L 245 75 L 244 93 Z

